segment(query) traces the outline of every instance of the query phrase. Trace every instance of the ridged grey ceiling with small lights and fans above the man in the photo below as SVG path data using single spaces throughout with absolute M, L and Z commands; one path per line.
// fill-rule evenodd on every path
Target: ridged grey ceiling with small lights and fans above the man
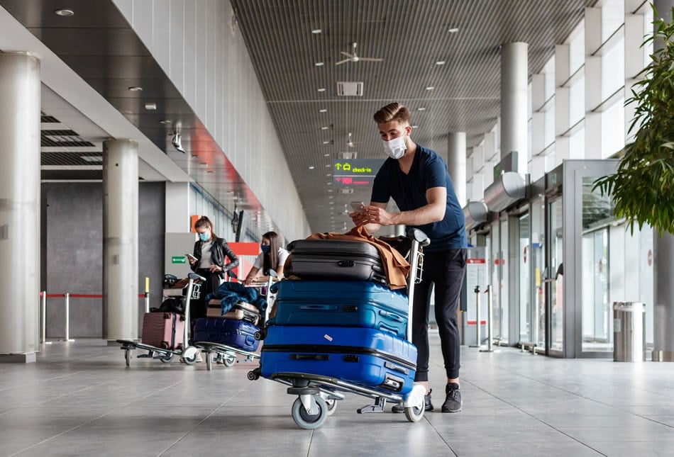
M 377 109 L 404 103 L 416 125 L 413 139 L 443 157 L 448 132 L 466 132 L 468 146 L 476 145 L 499 116 L 499 45 L 529 43 L 529 72 L 540 72 L 554 45 L 563 43 L 595 0 L 231 3 L 306 216 L 313 230 L 325 231 L 340 228 L 346 203 L 370 199 L 370 188 L 338 193 L 328 184 L 326 165 L 343 151 L 385 157 L 372 120 Z M 354 42 L 360 57 L 384 61 L 336 65 Z M 338 96 L 337 81 L 363 81 L 363 96 Z M 349 132 L 354 148 L 347 146 Z

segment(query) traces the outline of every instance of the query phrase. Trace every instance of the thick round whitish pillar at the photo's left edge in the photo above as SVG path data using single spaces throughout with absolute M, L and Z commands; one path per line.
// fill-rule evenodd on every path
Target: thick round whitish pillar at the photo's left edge
M 34 362 L 40 310 L 40 60 L 0 53 L 0 361 Z

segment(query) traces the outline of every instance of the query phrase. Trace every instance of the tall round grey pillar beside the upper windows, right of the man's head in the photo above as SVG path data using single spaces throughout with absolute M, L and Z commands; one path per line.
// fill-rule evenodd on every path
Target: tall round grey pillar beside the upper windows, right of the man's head
M 517 151 L 517 172 L 526 173 L 529 45 L 501 47 L 501 158 Z

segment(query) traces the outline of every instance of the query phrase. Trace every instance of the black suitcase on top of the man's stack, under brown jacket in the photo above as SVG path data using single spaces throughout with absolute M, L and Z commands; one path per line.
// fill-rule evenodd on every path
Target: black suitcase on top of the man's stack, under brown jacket
M 297 239 L 288 245 L 290 269 L 302 279 L 346 279 L 387 284 L 377 248 L 343 239 Z

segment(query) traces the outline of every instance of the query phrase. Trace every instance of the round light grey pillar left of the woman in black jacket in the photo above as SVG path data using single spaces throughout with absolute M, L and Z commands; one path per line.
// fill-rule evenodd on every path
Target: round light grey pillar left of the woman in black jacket
M 103 143 L 104 338 L 138 337 L 138 143 Z

